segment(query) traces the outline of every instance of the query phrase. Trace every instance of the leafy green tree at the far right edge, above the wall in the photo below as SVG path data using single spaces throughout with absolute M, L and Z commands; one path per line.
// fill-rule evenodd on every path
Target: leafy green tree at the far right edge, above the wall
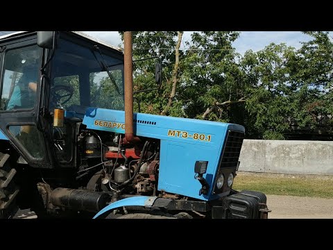
M 293 128 L 332 129 L 333 43 L 328 32 L 305 32 L 312 40 L 302 42 L 289 60 L 293 85 Z

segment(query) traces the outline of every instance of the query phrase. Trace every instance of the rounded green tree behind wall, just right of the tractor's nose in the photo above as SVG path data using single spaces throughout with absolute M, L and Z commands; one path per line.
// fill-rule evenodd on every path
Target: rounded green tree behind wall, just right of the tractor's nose
M 289 58 L 295 49 L 286 44 L 269 44 L 257 52 L 246 51 L 241 61 L 246 81 L 247 136 L 257 139 L 284 139 L 291 117 L 292 88 Z

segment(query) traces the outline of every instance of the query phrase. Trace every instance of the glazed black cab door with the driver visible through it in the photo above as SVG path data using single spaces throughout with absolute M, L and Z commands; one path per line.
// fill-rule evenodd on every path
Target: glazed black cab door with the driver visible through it
M 39 131 L 42 49 L 37 35 L 0 40 L 0 129 L 28 165 L 51 168 L 44 133 Z

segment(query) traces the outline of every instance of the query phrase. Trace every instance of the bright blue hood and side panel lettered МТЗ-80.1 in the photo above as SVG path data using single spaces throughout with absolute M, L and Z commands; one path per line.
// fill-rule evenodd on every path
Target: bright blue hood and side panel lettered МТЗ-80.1
M 133 118 L 136 135 L 160 139 L 158 190 L 204 201 L 217 198 L 212 195 L 212 187 L 226 133 L 229 129 L 244 132 L 243 126 L 142 113 L 134 113 Z M 125 113 L 87 108 L 83 124 L 90 129 L 125 133 Z M 210 184 L 207 195 L 199 195 L 201 185 L 194 178 L 197 160 L 208 161 L 207 172 L 203 175 Z

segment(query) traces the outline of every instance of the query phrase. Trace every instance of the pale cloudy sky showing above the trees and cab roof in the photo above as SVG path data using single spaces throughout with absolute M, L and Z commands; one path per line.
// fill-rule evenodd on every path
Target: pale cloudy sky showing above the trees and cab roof
M 5 33 L 11 33 L 13 31 L 0 31 L 0 35 Z M 108 42 L 114 46 L 119 46 L 122 44 L 120 36 L 117 31 L 83 31 L 87 35 L 99 38 L 105 42 Z M 331 37 L 333 37 L 333 32 L 330 32 Z M 185 31 L 183 35 L 183 41 L 190 40 L 191 32 Z M 253 51 L 259 51 L 264 49 L 268 44 L 274 42 L 275 44 L 280 44 L 285 42 L 287 46 L 295 47 L 296 49 L 301 47 L 300 42 L 307 42 L 311 40 L 309 35 L 305 35 L 300 31 L 241 31 L 241 35 L 234 42 L 234 47 L 236 51 L 244 54 L 248 49 Z

